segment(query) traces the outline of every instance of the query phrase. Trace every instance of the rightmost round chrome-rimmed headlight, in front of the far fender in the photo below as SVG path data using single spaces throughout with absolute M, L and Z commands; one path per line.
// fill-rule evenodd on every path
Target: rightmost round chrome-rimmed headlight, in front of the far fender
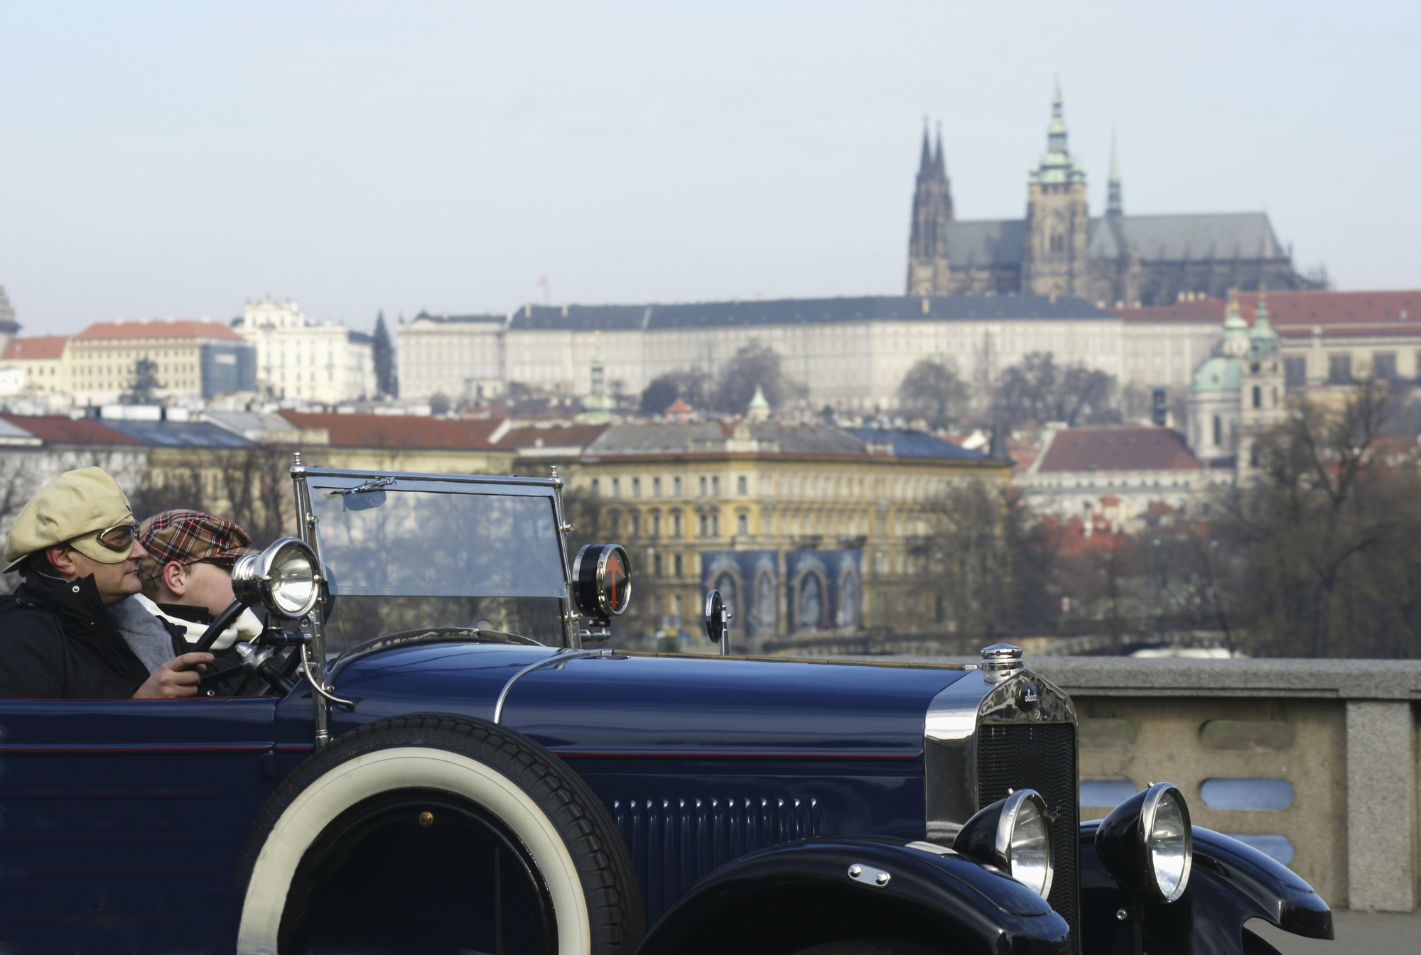
M 1096 853 L 1121 888 L 1172 902 L 1189 887 L 1194 830 L 1174 783 L 1155 783 L 1115 806 L 1096 830 Z

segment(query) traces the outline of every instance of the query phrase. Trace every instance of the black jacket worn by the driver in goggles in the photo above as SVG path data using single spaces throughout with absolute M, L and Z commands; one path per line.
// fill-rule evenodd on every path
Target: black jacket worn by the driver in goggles
M 119 699 L 146 679 L 92 577 L 30 574 L 0 598 L 0 698 Z

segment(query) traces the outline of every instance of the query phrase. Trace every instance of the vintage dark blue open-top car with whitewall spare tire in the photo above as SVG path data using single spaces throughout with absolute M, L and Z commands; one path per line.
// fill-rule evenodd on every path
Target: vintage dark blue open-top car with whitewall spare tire
M 7 952 L 1268 952 L 1285 867 L 1151 784 L 1079 820 L 1070 699 L 918 667 L 598 649 L 561 480 L 291 469 L 243 686 L 0 701 Z M 723 632 L 710 595 L 708 628 Z M 210 632 L 223 625 L 219 618 Z M 226 674 L 232 685 L 232 674 Z

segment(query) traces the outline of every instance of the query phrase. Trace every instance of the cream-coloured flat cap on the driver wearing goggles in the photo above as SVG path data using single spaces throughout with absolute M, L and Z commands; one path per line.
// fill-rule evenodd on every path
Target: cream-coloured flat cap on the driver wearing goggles
M 67 470 L 40 487 L 14 519 L 4 541 L 4 573 L 37 550 L 64 543 L 101 564 L 128 560 L 132 544 L 109 550 L 90 534 L 132 522 L 128 497 L 108 472 L 102 468 Z

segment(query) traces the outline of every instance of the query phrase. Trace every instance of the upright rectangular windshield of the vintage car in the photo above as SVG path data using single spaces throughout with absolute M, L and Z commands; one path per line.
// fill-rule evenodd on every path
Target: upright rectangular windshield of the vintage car
M 374 483 L 310 480 L 331 590 L 328 652 L 449 627 L 560 642 L 567 581 L 550 489 L 399 476 Z

